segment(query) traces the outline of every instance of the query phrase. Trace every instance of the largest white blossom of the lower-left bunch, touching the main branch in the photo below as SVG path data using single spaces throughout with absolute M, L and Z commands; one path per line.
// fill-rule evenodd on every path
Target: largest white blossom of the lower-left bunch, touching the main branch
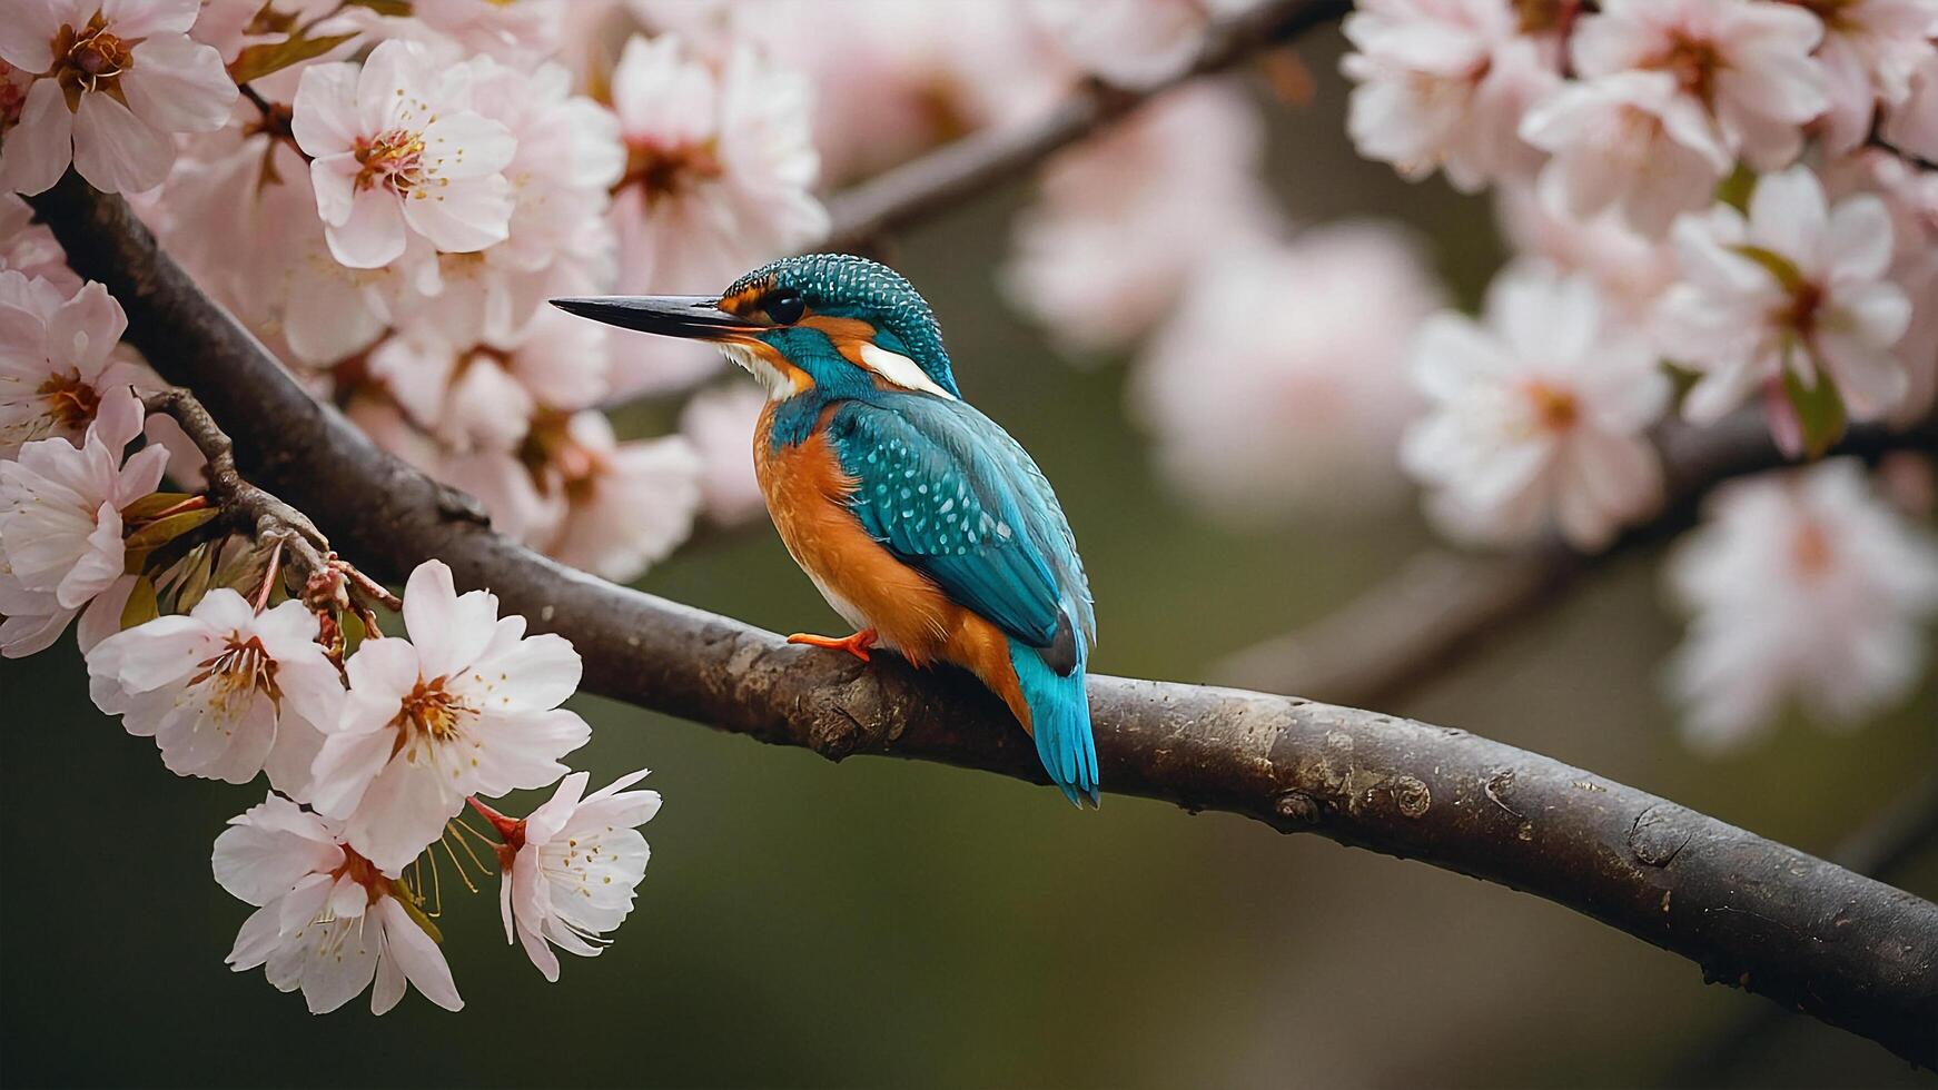
M 349 697 L 324 726 L 310 798 L 343 838 L 395 871 L 436 840 L 477 792 L 543 788 L 591 734 L 558 705 L 578 689 L 579 654 L 558 635 L 525 635 L 488 590 L 463 596 L 426 560 L 403 590 L 411 639 L 366 639 L 345 664 Z

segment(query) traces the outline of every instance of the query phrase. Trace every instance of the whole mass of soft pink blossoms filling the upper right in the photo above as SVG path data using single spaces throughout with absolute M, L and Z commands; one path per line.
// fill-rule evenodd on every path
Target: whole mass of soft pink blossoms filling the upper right
M 1140 77 L 1126 58 L 1188 58 L 1215 17 L 1116 8 L 1050 25 L 1101 43 L 1078 56 L 1120 83 Z M 1343 29 L 1357 151 L 1494 196 L 1512 259 L 1479 316 L 1444 308 L 1395 228 L 1289 228 L 1235 87 L 1064 153 L 1019 221 L 1012 296 L 1078 360 L 1141 341 L 1132 409 L 1209 513 L 1370 511 L 1403 474 L 1461 544 L 1595 552 L 1663 509 L 1663 430 L 1760 414 L 1806 459 L 1851 424 L 1930 416 L 1938 0 L 1362 0 Z M 1859 503 L 1849 467 L 1843 517 L 1783 515 L 1829 488 L 1802 484 L 1816 472 L 1719 501 L 1711 521 L 1756 511 L 1764 536 L 1707 527 L 1729 560 L 1672 567 L 1694 625 L 1669 687 L 1694 742 L 1746 738 L 1785 697 L 1851 720 L 1919 678 L 1932 544 Z M 1905 565 L 1839 567 L 1828 592 L 1812 565 L 1748 552 L 1798 519 L 1835 556 Z M 1725 573 L 1744 569 L 1791 623 L 1731 610 Z M 1853 647 L 1868 668 L 1814 681 Z

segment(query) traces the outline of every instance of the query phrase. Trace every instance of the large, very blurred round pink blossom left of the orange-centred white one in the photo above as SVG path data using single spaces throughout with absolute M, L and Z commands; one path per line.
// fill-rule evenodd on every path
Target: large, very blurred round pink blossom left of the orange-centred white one
M 1393 449 L 1419 410 L 1407 341 L 1440 304 L 1390 225 L 1229 254 L 1140 358 L 1134 412 L 1176 490 L 1233 523 L 1378 507 L 1399 496 Z

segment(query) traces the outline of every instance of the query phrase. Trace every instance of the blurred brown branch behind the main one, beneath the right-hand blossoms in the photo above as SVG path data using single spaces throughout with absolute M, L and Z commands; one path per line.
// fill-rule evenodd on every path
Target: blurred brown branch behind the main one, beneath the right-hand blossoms
M 1225 658 L 1213 678 L 1349 705 L 1399 703 L 1566 602 L 1585 575 L 1692 527 L 1704 496 L 1723 480 L 1791 465 L 1760 412 L 1709 428 L 1669 424 L 1657 445 L 1667 505 L 1607 550 L 1585 556 L 1560 540 L 1498 556 L 1426 550 L 1333 614 Z M 1901 432 L 1853 428 L 1835 453 L 1876 461 L 1891 449 L 1938 449 L 1938 418 Z

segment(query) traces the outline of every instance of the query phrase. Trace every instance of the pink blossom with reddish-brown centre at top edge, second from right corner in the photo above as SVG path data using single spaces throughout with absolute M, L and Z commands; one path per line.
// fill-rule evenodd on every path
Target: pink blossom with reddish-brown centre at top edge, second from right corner
M 1570 39 L 1583 79 L 1665 72 L 1682 103 L 1713 120 L 1717 141 L 1758 170 L 1787 167 L 1802 126 L 1829 105 L 1810 50 L 1824 23 L 1804 8 L 1756 0 L 1605 0 Z

